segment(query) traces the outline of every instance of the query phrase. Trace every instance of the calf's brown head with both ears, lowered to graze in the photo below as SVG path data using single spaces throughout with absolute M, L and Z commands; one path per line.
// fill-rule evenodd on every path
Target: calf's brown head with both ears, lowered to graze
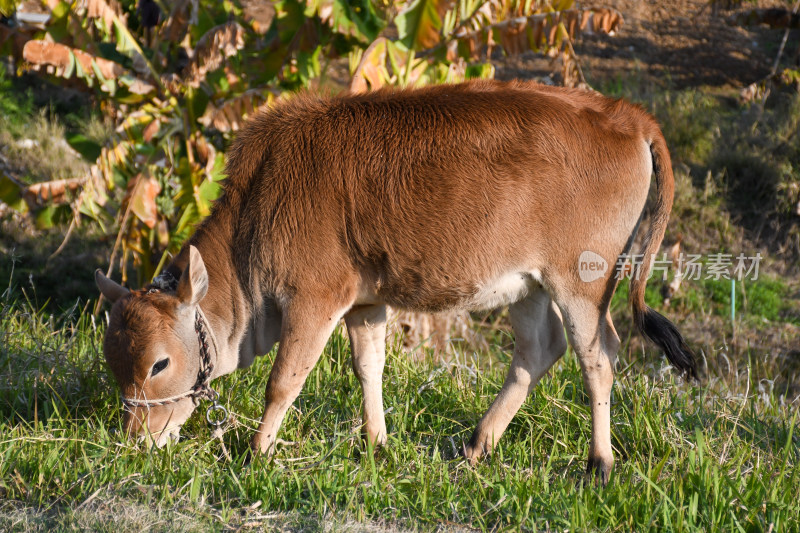
M 103 351 L 121 389 L 124 427 L 131 436 L 163 446 L 178 437 L 195 408 L 191 397 L 160 402 L 197 383 L 200 344 L 195 313 L 208 291 L 200 252 L 190 247 L 189 264 L 173 287 L 130 291 L 100 270 L 95 281 L 113 303 Z

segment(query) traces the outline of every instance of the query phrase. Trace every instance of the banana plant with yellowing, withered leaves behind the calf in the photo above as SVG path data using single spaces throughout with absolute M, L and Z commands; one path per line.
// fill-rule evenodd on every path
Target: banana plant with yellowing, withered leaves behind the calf
M 35 197 L 6 180 L 0 196 L 20 210 L 69 205 L 68 235 L 82 220 L 116 232 L 111 268 L 140 285 L 208 215 L 225 146 L 247 116 L 318 86 L 331 64 L 349 65 L 341 88 L 367 91 L 492 77 L 492 50 L 533 50 L 562 54 L 565 80 L 578 83 L 566 75 L 577 64 L 572 40 L 622 24 L 614 10 L 573 0 L 42 4 L 50 16 L 24 43 L 27 68 L 91 91 L 116 130 L 105 146 L 75 145 L 93 163 L 85 179 L 39 187 L 63 194 Z M 8 45 L 0 34 L 0 51 Z

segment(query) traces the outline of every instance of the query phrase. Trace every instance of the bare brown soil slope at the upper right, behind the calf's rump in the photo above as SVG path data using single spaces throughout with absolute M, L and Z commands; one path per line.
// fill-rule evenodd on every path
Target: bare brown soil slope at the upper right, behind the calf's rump
M 744 4 L 786 7 L 773 1 Z M 612 7 L 625 19 L 614 36 L 584 36 L 575 51 L 587 80 L 598 88 L 639 77 L 659 87 L 742 88 L 770 73 L 783 30 L 728 24 L 736 10 L 717 10 L 708 0 L 596 0 L 582 7 Z M 784 62 L 797 60 L 800 32 L 790 34 Z M 560 69 L 533 53 L 508 58 L 497 78 L 546 77 Z M 560 74 L 553 76 L 556 82 Z

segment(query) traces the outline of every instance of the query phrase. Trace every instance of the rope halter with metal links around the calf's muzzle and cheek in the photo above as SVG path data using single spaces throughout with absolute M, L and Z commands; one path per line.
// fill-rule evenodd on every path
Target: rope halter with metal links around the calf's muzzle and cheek
M 159 290 L 160 289 L 156 287 L 151 288 L 148 290 L 148 294 L 159 292 Z M 218 428 L 228 420 L 228 410 L 219 403 L 219 393 L 211 388 L 211 375 L 214 372 L 214 363 L 211 360 L 211 351 L 208 349 L 209 339 L 214 346 L 215 358 L 219 358 L 217 339 L 214 336 L 214 332 L 211 329 L 211 325 L 208 323 L 205 313 L 203 313 L 199 305 L 194 315 L 194 331 L 197 333 L 197 340 L 200 344 L 200 369 L 197 372 L 197 381 L 192 388 L 174 396 L 153 400 L 148 398 L 126 398 L 120 395 L 122 404 L 125 407 L 146 407 L 150 409 L 151 407 L 176 403 L 184 398 L 191 398 L 196 406 L 201 399 L 206 399 L 213 402 L 206 410 L 206 421 L 209 425 Z

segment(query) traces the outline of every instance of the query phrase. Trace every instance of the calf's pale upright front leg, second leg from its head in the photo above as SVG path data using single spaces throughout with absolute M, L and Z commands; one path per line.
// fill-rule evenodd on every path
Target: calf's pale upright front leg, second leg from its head
M 386 306 L 351 309 L 344 317 L 353 370 L 364 393 L 364 437 L 373 445 L 386 444 L 383 416 L 383 367 L 386 363 Z

